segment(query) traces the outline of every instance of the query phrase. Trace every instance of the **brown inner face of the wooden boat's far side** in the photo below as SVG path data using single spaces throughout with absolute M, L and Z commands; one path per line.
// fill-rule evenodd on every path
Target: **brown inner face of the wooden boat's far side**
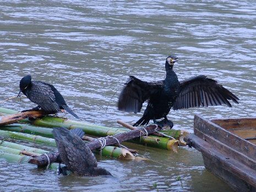
M 214 120 L 211 120 L 211 122 L 214 122 L 220 127 L 223 127 L 226 129 L 242 128 L 242 127 L 256 128 L 256 117 L 223 118 L 223 119 L 214 119 Z

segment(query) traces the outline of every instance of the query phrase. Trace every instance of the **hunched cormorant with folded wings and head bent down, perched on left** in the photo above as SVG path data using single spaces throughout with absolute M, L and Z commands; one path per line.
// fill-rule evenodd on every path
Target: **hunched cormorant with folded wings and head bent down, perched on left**
M 31 76 L 27 75 L 20 80 L 20 92 L 24 93 L 26 97 L 38 105 L 35 108 L 32 108 L 32 110 L 39 110 L 42 108 L 47 112 L 56 113 L 64 109 L 75 118 L 79 118 L 68 107 L 61 93 L 59 93 L 52 84 L 41 81 L 31 81 Z M 19 94 L 17 97 L 19 97 Z

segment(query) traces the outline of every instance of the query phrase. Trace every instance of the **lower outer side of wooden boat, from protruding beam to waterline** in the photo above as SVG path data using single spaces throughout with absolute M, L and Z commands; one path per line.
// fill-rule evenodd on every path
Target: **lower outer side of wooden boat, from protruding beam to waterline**
M 216 176 L 221 176 L 221 173 L 228 172 L 225 178 L 226 182 L 236 191 L 253 191 L 256 187 L 256 171 L 252 168 L 245 166 L 243 163 L 236 161 L 228 155 L 222 154 L 219 150 L 205 140 L 200 139 L 194 134 L 189 134 L 186 138 L 188 141 L 192 141 L 192 146 L 199 150 L 204 157 L 207 157 L 210 162 L 205 163 L 205 167 Z M 223 171 L 222 171 L 223 170 Z M 216 173 L 217 172 L 217 173 Z M 232 186 L 232 181 L 239 182 Z M 245 183 L 245 184 L 243 184 Z M 236 187 L 237 186 L 237 187 Z M 243 188 L 240 188 L 243 187 Z

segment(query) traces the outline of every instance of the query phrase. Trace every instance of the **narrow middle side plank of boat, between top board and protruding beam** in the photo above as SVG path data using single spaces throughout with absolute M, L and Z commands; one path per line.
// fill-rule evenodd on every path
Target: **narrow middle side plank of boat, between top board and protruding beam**
M 239 151 L 236 151 L 235 149 L 231 148 L 230 146 L 221 143 L 219 140 L 216 140 L 213 137 L 210 137 L 209 135 L 200 132 L 197 128 L 194 128 L 194 134 L 200 139 L 203 139 L 205 142 L 211 144 L 214 147 L 214 149 L 221 151 L 221 153 L 243 163 L 244 165 L 256 171 L 256 160 L 251 159 L 244 155 L 243 153 L 240 153 Z

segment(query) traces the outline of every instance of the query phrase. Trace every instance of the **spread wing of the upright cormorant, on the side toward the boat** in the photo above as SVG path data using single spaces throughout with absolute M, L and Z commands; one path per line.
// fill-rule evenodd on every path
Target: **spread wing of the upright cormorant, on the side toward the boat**
M 232 107 L 228 100 L 238 103 L 239 99 L 217 81 L 204 75 L 199 75 L 181 82 L 179 94 L 172 109 L 178 110 L 222 104 Z

